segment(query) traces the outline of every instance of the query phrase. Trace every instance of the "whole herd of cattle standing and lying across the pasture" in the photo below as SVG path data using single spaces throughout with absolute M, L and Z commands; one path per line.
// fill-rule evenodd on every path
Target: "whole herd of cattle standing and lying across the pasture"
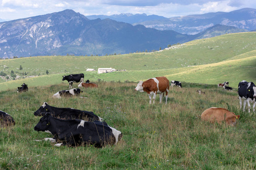
M 63 76 L 63 80 L 69 82 L 69 88 L 72 88 L 73 82 L 77 82 L 79 87 L 98 87 L 95 83 L 90 83 L 89 80 L 84 83 L 84 74 L 71 74 Z M 171 87 L 181 86 L 181 82 L 172 80 Z M 218 84 L 218 87 L 224 87 L 225 90 L 232 90 L 229 87 L 229 82 Z M 229 88 L 226 88 L 229 87 Z M 135 91 L 147 92 L 153 104 L 155 103 L 156 94 L 160 96 L 160 103 L 165 94 L 166 104 L 168 99 L 168 92 L 170 89 L 169 80 L 164 77 L 151 78 L 146 81 L 140 81 L 135 87 Z M 17 88 L 17 92 L 28 91 L 27 84 L 23 83 L 22 87 Z M 60 98 L 61 96 L 79 95 L 82 91 L 79 88 L 70 90 L 62 90 L 53 95 L 53 97 Z M 201 90 L 199 94 L 205 94 Z M 238 95 L 240 99 L 240 109 L 245 112 L 246 103 L 248 105 L 248 112 L 250 113 L 250 103 L 253 103 L 253 112 L 255 112 L 256 104 L 256 86 L 253 82 L 246 82 L 243 80 L 238 84 Z M 152 97 L 153 96 L 153 97 Z M 98 117 L 93 112 L 80 111 L 73 108 L 56 108 L 48 105 L 46 102 L 34 112 L 35 116 L 43 116 L 35 126 L 36 131 L 45 131 L 51 133 L 53 138 L 44 138 L 43 140 L 50 140 L 57 142 L 56 146 L 80 146 L 93 145 L 95 147 L 102 147 L 105 145 L 116 145 L 122 138 L 121 131 L 110 127 L 102 118 Z M 224 108 L 209 108 L 201 114 L 202 120 L 210 122 L 221 123 L 225 121 L 226 124 L 236 125 L 236 120 L 240 118 L 239 115 L 234 114 Z M 13 118 L 0 111 L 1 124 L 15 125 Z

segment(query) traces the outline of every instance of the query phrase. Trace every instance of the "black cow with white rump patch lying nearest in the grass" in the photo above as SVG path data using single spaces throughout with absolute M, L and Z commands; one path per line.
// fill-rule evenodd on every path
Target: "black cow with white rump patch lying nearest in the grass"
M 110 127 L 106 122 L 84 120 L 61 120 L 46 114 L 34 127 L 36 131 L 50 132 L 59 145 L 104 147 L 117 145 L 122 133 Z

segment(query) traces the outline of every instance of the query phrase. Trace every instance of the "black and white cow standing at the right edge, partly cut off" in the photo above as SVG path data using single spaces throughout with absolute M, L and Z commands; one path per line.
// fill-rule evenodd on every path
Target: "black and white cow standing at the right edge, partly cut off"
M 242 99 L 243 99 L 243 112 L 245 112 L 246 101 L 248 104 L 248 112 L 250 113 L 250 102 L 253 103 L 253 112 L 255 112 L 256 105 L 256 86 L 253 82 L 246 82 L 242 80 L 238 84 L 238 95 L 240 100 L 240 109 L 242 108 Z

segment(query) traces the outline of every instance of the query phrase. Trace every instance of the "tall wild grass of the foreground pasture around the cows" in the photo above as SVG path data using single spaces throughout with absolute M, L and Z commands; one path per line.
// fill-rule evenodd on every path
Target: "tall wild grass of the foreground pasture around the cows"
M 243 113 L 236 92 L 207 84 L 184 83 L 171 88 L 167 105 L 149 105 L 145 92 L 134 91 L 137 83 L 97 82 L 83 89 L 80 97 L 53 99 L 67 84 L 30 88 L 17 94 L 0 92 L 1 110 L 16 121 L 1 127 L 0 169 L 255 169 L 255 113 Z M 205 91 L 199 95 L 196 90 Z M 93 111 L 109 126 L 122 131 L 115 146 L 104 148 L 54 147 L 35 139 L 52 137 L 36 132 L 40 117 L 34 112 L 44 101 L 54 107 Z M 209 107 L 240 114 L 236 127 L 201 121 Z

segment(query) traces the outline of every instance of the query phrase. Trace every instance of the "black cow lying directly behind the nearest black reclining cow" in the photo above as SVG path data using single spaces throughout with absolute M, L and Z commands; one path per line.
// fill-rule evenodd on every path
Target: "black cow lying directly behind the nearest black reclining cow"
M 63 119 L 81 119 L 88 121 L 102 121 L 103 119 L 98 117 L 93 112 L 89 111 L 80 111 L 73 108 L 56 108 L 48 105 L 46 102 L 34 112 L 35 116 L 45 116 L 49 112 L 53 117 L 63 118 Z

